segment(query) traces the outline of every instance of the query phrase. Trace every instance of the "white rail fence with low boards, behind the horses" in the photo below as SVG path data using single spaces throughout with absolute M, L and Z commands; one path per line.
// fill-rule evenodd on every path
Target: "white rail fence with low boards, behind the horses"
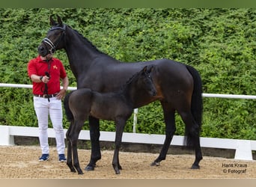
M 4 84 L 0 83 L 0 87 L 4 88 L 32 88 L 32 85 Z M 68 90 L 76 90 L 69 87 Z M 203 93 L 204 97 L 218 97 L 228 99 L 256 99 L 252 95 L 231 95 L 231 94 L 213 94 Z M 1 103 L 2 105 L 3 103 Z M 122 141 L 127 143 L 139 144 L 163 144 L 165 135 L 141 134 L 135 132 L 137 123 L 138 108 L 134 110 L 133 132 L 124 132 Z M 67 132 L 67 129 L 64 129 Z M 53 129 L 48 129 L 49 138 L 55 138 Z M 14 136 L 38 137 L 37 127 L 27 126 L 2 126 L 0 125 L 0 145 L 14 145 Z M 183 146 L 183 136 L 174 135 L 171 145 Z M 90 132 L 82 130 L 79 134 L 80 140 L 90 140 Z M 100 132 L 100 141 L 115 141 L 115 132 Z M 252 150 L 256 150 L 256 141 L 240 140 L 228 138 L 200 138 L 201 147 L 220 148 L 236 150 L 234 159 L 252 160 Z

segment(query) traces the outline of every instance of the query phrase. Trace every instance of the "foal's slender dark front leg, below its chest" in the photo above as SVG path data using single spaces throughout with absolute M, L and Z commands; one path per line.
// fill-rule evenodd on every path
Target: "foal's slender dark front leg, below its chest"
M 122 136 L 123 136 L 125 124 L 126 124 L 126 120 L 124 120 L 124 119 L 119 119 L 116 121 L 115 150 L 114 150 L 114 156 L 113 156 L 113 161 L 112 161 L 112 165 L 115 170 L 115 174 L 120 174 L 120 170 L 122 169 L 122 167 L 119 163 L 119 150 L 121 147 Z

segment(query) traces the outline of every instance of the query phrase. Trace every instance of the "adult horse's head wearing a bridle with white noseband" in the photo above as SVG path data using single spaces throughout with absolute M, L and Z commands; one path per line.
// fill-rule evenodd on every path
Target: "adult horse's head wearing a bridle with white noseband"
M 52 26 L 47 36 L 42 40 L 40 46 L 38 46 L 38 53 L 41 56 L 46 56 L 49 53 L 53 54 L 56 49 L 64 48 L 64 35 L 66 31 L 66 25 L 61 21 L 58 16 L 58 22 L 55 22 L 50 16 L 50 25 Z

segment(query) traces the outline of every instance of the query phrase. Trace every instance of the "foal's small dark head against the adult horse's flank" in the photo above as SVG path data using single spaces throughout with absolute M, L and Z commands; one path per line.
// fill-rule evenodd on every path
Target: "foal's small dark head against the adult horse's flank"
M 150 96 L 156 96 L 156 87 L 151 76 L 152 71 L 153 66 L 145 66 L 139 73 L 138 84 L 141 84 L 141 87 L 143 87 Z

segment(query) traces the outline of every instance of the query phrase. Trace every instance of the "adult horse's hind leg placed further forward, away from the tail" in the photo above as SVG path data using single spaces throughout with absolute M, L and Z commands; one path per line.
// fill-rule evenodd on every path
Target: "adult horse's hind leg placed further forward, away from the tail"
M 164 118 L 165 118 L 165 142 L 162 145 L 162 150 L 158 156 L 158 158 L 151 163 L 151 166 L 158 166 L 159 163 L 162 160 L 165 160 L 166 154 L 168 152 L 168 148 L 170 147 L 171 140 L 174 136 L 174 132 L 176 131 L 175 126 L 175 110 L 171 108 L 170 104 L 168 102 L 161 102 L 162 108 L 164 112 Z

